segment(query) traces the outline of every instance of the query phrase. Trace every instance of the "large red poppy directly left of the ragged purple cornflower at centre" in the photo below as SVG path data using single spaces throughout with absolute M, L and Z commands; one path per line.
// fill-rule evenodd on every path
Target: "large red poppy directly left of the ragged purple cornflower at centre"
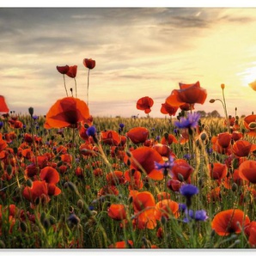
M 130 160 L 129 160 L 130 159 Z M 140 147 L 131 151 L 131 158 L 125 155 L 124 162 L 131 162 L 130 168 L 135 168 L 139 172 L 145 172 L 153 180 L 162 180 L 162 172 L 155 169 L 155 162 L 163 162 L 162 155 L 155 149 Z

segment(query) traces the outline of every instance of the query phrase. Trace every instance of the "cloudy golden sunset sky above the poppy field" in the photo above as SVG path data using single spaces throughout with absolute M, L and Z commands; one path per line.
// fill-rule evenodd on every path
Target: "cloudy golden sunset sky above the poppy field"
M 256 8 L 248 7 L 79 7 L 0 8 L 0 94 L 11 111 L 46 114 L 66 96 L 56 66 L 77 65 L 77 98 L 93 116 L 146 117 L 143 96 L 154 100 L 151 117 L 179 82 L 199 81 L 207 90 L 195 111 L 256 113 Z M 65 77 L 69 96 L 75 80 Z

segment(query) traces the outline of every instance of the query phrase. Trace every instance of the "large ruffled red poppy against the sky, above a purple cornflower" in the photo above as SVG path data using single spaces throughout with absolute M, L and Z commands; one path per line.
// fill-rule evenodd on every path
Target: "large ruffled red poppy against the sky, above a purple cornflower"
M 180 89 L 174 89 L 172 94 L 168 96 L 166 102 L 174 107 L 180 107 L 181 105 L 200 103 L 204 104 L 207 93 L 204 88 L 200 87 L 200 83 L 179 83 Z

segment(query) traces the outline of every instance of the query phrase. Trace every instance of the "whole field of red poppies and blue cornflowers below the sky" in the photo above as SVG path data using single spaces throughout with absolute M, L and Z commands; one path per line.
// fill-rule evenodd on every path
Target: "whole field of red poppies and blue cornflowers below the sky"
M 93 70 L 95 62 L 84 59 Z M 68 95 L 45 116 L 10 112 L 0 96 L 0 247 L 253 248 L 256 246 L 256 115 L 201 117 L 214 103 L 180 83 L 160 112 L 94 117 Z M 76 84 L 76 80 L 75 80 Z M 89 87 L 88 87 L 89 88 Z M 209 98 L 209 99 L 208 99 Z

